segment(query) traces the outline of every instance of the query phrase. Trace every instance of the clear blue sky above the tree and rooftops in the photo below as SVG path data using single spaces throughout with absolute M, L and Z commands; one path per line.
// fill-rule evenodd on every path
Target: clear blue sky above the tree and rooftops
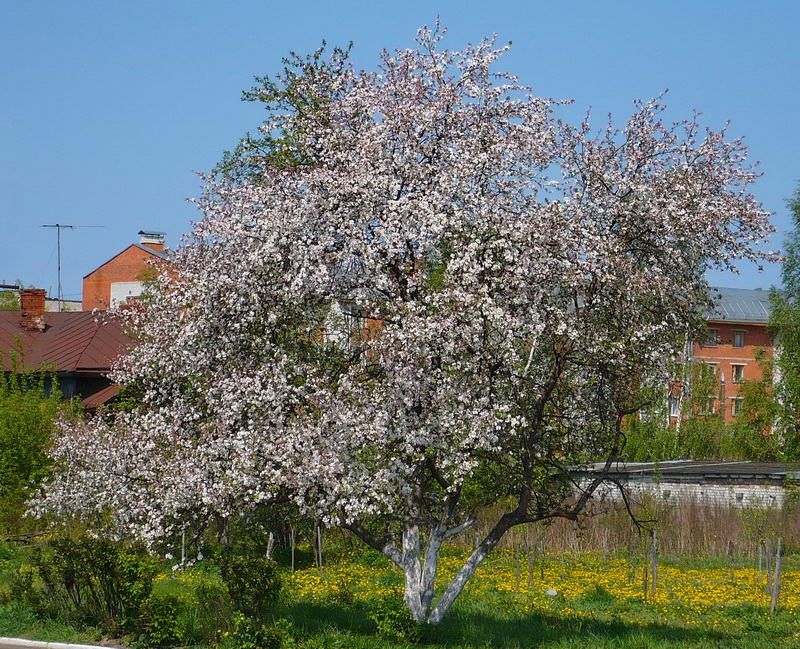
M 0 0 L 0 12 L 0 282 L 55 293 L 55 232 L 39 226 L 104 225 L 64 233 L 64 293 L 75 299 L 83 275 L 138 230 L 164 230 L 174 246 L 190 229 L 194 172 L 260 121 L 240 102 L 254 75 L 322 39 L 352 40 L 356 63 L 372 67 L 437 14 L 448 46 L 489 33 L 513 41 L 503 67 L 541 95 L 591 105 L 598 123 L 665 88 L 675 118 L 697 108 L 710 126 L 731 120 L 761 161 L 773 247 L 800 180 L 796 0 Z M 711 280 L 768 287 L 779 269 Z

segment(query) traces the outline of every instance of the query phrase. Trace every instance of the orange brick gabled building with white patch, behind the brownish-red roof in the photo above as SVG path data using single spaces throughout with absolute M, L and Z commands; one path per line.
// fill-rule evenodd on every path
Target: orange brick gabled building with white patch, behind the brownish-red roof
M 106 310 L 140 296 L 144 280 L 153 270 L 149 262 L 166 259 L 164 233 L 141 230 L 139 243 L 132 243 L 83 278 L 83 310 Z

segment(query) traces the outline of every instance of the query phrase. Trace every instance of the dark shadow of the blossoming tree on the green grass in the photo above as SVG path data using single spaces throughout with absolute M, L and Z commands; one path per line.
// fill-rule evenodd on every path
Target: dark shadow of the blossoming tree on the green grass
M 311 604 L 287 603 L 282 615 L 291 619 L 309 635 L 331 629 L 361 636 L 359 646 L 402 647 L 376 635 L 369 619 L 367 605 L 353 603 Z M 482 612 L 471 608 L 454 608 L 444 621 L 427 628 L 420 646 L 469 649 L 498 647 L 734 647 L 736 638 L 711 629 L 690 629 L 666 624 L 636 624 L 616 620 L 582 617 L 560 617 L 543 613 L 511 613 L 496 609 Z

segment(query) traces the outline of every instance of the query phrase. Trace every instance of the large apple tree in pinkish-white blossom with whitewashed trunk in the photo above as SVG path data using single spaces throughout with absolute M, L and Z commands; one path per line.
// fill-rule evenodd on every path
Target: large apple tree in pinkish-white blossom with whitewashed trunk
M 295 79 L 313 110 L 264 126 L 295 163 L 208 179 L 177 272 L 123 314 L 139 342 L 114 378 L 143 403 L 66 428 L 37 508 L 153 540 L 290 498 L 397 564 L 433 624 L 510 528 L 578 517 L 602 476 L 572 471 L 618 456 L 704 272 L 767 258 L 768 214 L 724 131 L 659 101 L 570 125 L 490 72 L 506 48 L 440 41 Z M 369 332 L 332 335 L 347 313 Z M 442 544 L 498 503 L 436 584 Z

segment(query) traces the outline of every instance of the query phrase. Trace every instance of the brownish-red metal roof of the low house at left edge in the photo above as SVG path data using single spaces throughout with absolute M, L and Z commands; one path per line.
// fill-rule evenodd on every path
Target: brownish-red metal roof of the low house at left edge
M 119 324 L 99 323 L 91 311 L 45 313 L 44 331 L 27 331 L 19 311 L 0 311 L 0 365 L 11 369 L 9 350 L 22 345 L 25 367 L 42 364 L 56 372 L 102 373 L 131 344 Z

